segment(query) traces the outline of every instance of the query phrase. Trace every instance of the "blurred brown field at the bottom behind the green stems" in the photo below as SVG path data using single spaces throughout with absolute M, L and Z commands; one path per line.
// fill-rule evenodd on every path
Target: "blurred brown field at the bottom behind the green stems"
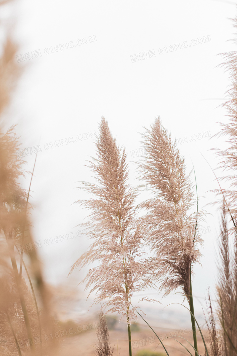
M 79 355 L 79 353 L 80 355 L 83 354 L 85 356 L 95 355 L 95 347 L 98 341 L 96 335 L 96 327 L 98 325 L 98 320 L 98 314 L 91 314 L 89 318 L 87 315 L 78 318 L 77 320 L 64 319 L 64 321 L 59 321 L 61 331 L 59 333 L 56 333 L 56 337 L 54 337 L 56 342 L 57 340 L 58 342 L 60 342 L 58 356 L 76 356 Z M 184 339 L 181 339 L 181 337 L 184 337 L 192 344 L 193 340 L 190 329 L 158 328 L 152 324 L 149 318 L 147 318 L 147 321 L 151 324 L 157 335 L 162 338 L 162 340 L 168 337 L 168 339 L 163 340 L 163 344 L 167 347 L 167 351 L 170 355 L 189 355 L 188 351 L 185 350 L 184 347 L 180 345 L 177 341 L 175 341 L 175 339 L 181 342 L 193 354 L 192 346 L 190 346 L 190 344 Z M 114 346 L 114 356 L 128 356 L 128 331 L 125 321 L 121 320 L 119 322 L 119 318 L 117 316 L 108 315 L 107 323 L 109 326 L 111 344 L 112 346 Z M 202 330 L 202 332 L 205 337 L 206 330 Z M 137 354 L 139 355 L 139 352 L 145 350 L 160 352 L 161 355 L 165 355 L 163 347 L 158 341 L 156 335 L 145 323 L 138 322 L 136 324 L 133 324 L 131 326 L 131 335 L 133 347 L 132 351 L 134 356 L 136 356 Z M 177 336 L 175 338 L 169 337 L 169 335 Z M 200 355 L 204 355 L 205 350 L 199 333 L 198 345 L 200 347 Z

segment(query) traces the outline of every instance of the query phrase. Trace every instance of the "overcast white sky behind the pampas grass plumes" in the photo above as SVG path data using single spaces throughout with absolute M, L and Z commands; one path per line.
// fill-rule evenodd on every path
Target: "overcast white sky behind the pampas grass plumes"
M 19 63 L 25 71 L 14 99 L 11 123 L 18 124 L 22 148 L 41 146 L 32 183 L 34 236 L 43 246 L 38 251 L 45 278 L 54 284 L 64 283 L 70 266 L 89 245 L 88 238 L 64 239 L 48 246 L 44 240 L 76 232 L 74 226 L 87 215 L 71 204 L 81 198 L 76 182 L 92 181 L 84 164 L 88 156 L 95 155 L 95 145 L 86 135 L 97 132 L 102 115 L 118 143 L 126 147 L 132 184 L 138 184 L 133 161 L 139 157 L 132 158 L 131 151 L 141 148 L 142 126 L 149 127 L 160 115 L 174 139 L 187 137 L 184 141 L 191 141 L 195 135 L 193 141 L 179 142 L 178 147 L 188 171 L 194 163 L 202 197 L 200 209 L 214 199 L 208 191 L 218 186 L 201 153 L 214 168 L 216 160 L 209 149 L 225 145 L 220 138 L 195 138 L 204 132 L 214 135 L 220 127 L 217 122 L 227 121 L 225 109 L 217 106 L 225 101 L 230 83 L 228 73 L 217 67 L 222 62 L 217 54 L 236 50 L 228 41 L 234 38 L 229 18 L 236 15 L 236 6 L 231 1 L 214 0 L 22 0 L 13 8 L 20 43 L 17 54 L 32 52 L 33 58 Z M 89 36 L 95 36 L 96 41 L 75 46 L 77 40 Z M 210 41 L 191 45 L 192 40 L 196 43 L 198 38 L 208 36 Z M 74 47 L 55 51 L 55 46 L 69 42 Z M 188 47 L 169 51 L 169 46 L 179 43 Z M 163 54 L 159 54 L 160 48 Z M 42 56 L 34 58 L 38 49 Z M 148 54 L 150 50 L 156 56 L 131 61 L 131 55 L 139 58 L 139 53 Z M 75 141 L 83 133 L 81 141 L 66 145 L 65 138 Z M 64 143 L 55 147 L 59 140 Z M 44 145 L 50 142 L 53 148 L 45 150 Z M 26 157 L 30 171 L 34 158 L 35 154 Z M 205 208 L 214 216 L 206 216 L 204 226 L 210 226 L 211 232 L 203 234 L 202 267 L 195 267 L 193 290 L 200 297 L 209 285 L 212 290 L 215 287 L 219 234 L 217 207 Z M 84 274 L 75 273 L 78 283 Z M 175 295 L 170 300 L 182 298 Z

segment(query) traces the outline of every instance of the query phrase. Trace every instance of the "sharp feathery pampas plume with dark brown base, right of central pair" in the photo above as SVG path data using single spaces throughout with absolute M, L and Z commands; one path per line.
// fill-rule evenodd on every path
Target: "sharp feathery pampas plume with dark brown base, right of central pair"
M 157 258 L 156 277 L 165 294 L 181 287 L 189 300 L 190 267 L 199 261 L 202 243 L 198 230 L 195 234 L 190 174 L 186 175 L 184 159 L 160 117 L 142 137 L 147 154 L 139 172 L 153 198 L 140 207 L 147 210 L 142 223 L 149 230 L 147 241 Z

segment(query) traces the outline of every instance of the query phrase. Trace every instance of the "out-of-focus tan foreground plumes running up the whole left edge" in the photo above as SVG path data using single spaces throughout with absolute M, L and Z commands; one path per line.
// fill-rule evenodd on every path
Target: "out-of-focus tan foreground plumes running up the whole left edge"
M 1 1 L 0 9 L 9 3 Z M 17 45 L 10 30 L 5 32 L 0 57 L 0 355 L 46 356 L 52 355 L 54 342 L 46 343 L 43 336 L 54 330 L 55 323 L 49 313 L 41 265 L 35 249 L 20 260 L 16 248 L 33 245 L 33 237 L 29 193 L 19 183 L 26 175 L 25 162 L 16 155 L 19 138 L 15 126 L 4 129 L 4 117 L 21 74 L 15 56 Z

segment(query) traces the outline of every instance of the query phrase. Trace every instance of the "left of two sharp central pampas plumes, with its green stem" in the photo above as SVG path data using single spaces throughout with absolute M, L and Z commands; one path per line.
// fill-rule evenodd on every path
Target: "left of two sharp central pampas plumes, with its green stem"
M 97 262 L 82 282 L 87 281 L 86 288 L 92 287 L 89 295 L 96 291 L 93 303 L 102 302 L 103 308 L 108 308 L 106 313 L 120 314 L 121 319 L 126 316 L 130 330 L 131 320 L 137 320 L 138 308 L 131 307 L 131 297 L 134 292 L 153 285 L 154 263 L 142 251 L 145 229 L 136 217 L 134 200 L 138 189 L 127 183 L 125 150 L 117 146 L 104 117 L 96 147 L 97 158 L 92 158 L 88 167 L 95 174 L 97 184 L 82 182 L 81 187 L 94 197 L 77 201 L 91 210 L 90 220 L 84 225 L 92 227 L 93 243 L 74 263 L 70 273 L 74 268 Z

